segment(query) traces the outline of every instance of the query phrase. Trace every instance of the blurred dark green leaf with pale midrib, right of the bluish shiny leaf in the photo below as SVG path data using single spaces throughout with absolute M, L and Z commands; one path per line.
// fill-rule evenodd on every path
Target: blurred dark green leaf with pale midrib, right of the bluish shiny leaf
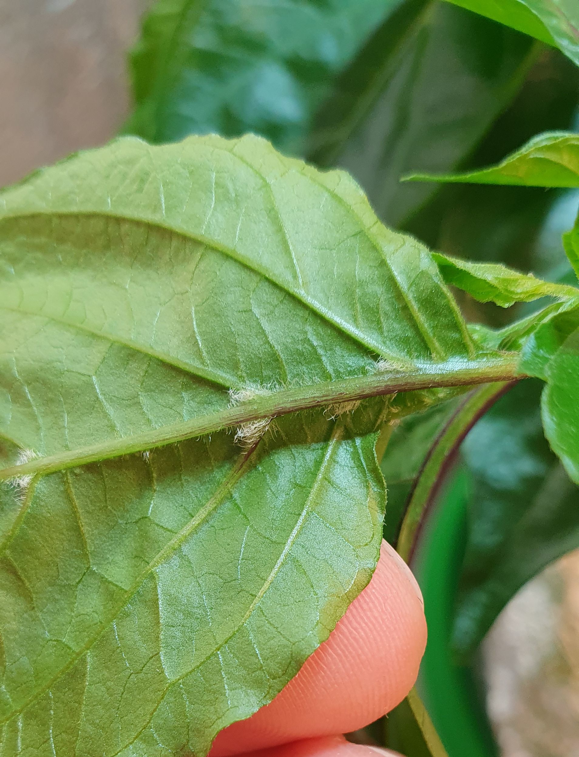
M 461 164 L 512 101 L 537 53 L 525 36 L 451 5 L 407 8 L 416 11 L 412 23 L 380 47 L 392 33 L 391 20 L 384 23 L 338 81 L 312 136 L 321 142 L 312 157 L 350 171 L 395 226 L 437 191 L 401 186 L 400 176 Z

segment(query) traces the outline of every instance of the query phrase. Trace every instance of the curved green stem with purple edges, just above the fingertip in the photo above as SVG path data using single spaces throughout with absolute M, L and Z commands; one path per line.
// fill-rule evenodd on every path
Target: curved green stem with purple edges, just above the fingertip
M 475 422 L 513 383 L 511 381 L 488 384 L 469 392 L 428 450 L 410 494 L 398 537 L 397 551 L 406 562 L 412 558 L 420 528 L 444 480 L 454 453 Z

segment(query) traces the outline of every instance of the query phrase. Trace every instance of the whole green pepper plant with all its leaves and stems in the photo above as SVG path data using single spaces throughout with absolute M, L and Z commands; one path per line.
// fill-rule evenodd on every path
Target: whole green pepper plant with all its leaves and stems
M 541 260 L 561 198 L 519 188 L 579 187 L 579 6 L 458 5 L 159 0 L 126 133 L 0 193 L 2 755 L 206 755 L 465 437 L 462 656 L 579 545 L 579 228 Z M 540 460 L 508 494 L 499 425 Z

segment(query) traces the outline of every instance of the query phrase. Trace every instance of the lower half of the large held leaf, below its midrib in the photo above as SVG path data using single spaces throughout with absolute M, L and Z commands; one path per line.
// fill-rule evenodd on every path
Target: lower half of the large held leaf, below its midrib
M 369 580 L 373 443 L 320 415 L 33 481 L 2 544 L 5 753 L 204 754 L 269 702 Z

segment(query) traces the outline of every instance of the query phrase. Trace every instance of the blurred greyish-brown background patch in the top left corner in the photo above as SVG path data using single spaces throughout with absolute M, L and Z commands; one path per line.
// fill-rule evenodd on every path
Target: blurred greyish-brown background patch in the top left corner
M 0 0 L 0 185 L 101 145 L 129 107 L 147 0 Z

